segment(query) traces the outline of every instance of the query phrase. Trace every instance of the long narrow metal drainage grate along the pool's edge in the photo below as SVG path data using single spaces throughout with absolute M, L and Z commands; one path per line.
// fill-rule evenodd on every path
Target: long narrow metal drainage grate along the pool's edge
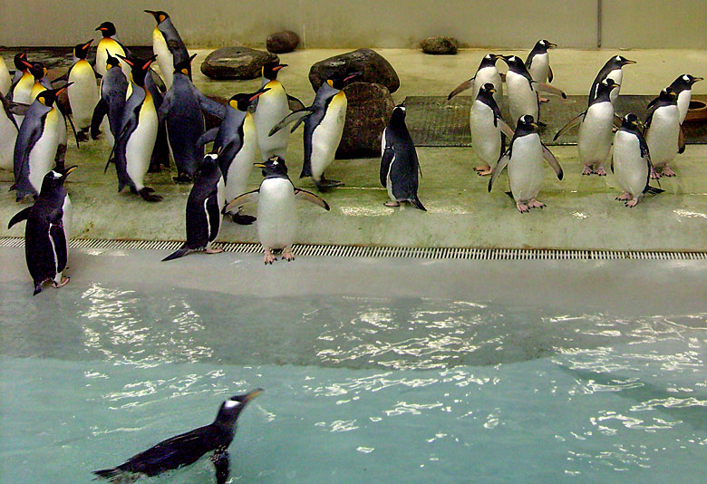
M 119 249 L 119 250 L 177 250 L 183 242 L 176 240 L 104 240 L 74 238 L 72 248 Z M 24 247 L 22 237 L 2 237 L 0 247 Z M 226 252 L 257 254 L 260 244 L 217 243 L 215 247 Z M 292 247 L 302 257 L 407 257 L 420 259 L 475 259 L 475 260 L 703 260 L 707 252 L 669 252 L 638 250 L 562 250 L 521 248 L 467 248 L 467 247 L 362 247 L 362 246 L 317 246 L 295 244 Z

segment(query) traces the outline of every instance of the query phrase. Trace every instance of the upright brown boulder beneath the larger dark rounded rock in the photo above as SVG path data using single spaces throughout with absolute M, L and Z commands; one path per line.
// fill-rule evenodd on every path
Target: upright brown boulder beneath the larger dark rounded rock
M 391 92 L 370 82 L 353 82 L 344 92 L 348 107 L 336 158 L 380 157 L 381 136 L 395 107 Z

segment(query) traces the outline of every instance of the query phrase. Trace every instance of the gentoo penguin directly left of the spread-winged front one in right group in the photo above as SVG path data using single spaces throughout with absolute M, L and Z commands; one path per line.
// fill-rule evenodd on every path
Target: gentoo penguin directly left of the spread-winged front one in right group
M 513 136 L 513 131 L 501 118 L 499 105 L 493 97 L 495 92 L 496 88 L 490 82 L 481 86 L 469 113 L 471 148 L 484 163 L 474 170 L 481 176 L 491 174 L 492 164 L 503 154 L 505 137 Z

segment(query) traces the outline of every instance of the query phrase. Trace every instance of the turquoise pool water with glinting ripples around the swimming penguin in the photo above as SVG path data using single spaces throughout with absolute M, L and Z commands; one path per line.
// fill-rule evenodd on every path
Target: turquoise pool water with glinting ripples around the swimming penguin
M 256 387 L 232 482 L 702 481 L 705 319 L 0 284 L 0 482 L 90 482 Z

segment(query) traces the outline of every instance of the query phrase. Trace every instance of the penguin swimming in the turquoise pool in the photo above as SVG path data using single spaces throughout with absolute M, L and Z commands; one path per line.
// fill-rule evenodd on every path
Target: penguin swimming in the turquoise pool
M 162 472 L 189 466 L 202 456 L 209 459 L 216 469 L 217 484 L 228 480 L 228 446 L 236 434 L 237 419 L 262 389 L 243 395 L 235 395 L 221 403 L 216 420 L 204 427 L 182 433 L 144 452 L 132 456 L 125 463 L 113 469 L 94 470 L 93 473 L 111 482 L 134 482 L 141 477 L 158 476 Z

